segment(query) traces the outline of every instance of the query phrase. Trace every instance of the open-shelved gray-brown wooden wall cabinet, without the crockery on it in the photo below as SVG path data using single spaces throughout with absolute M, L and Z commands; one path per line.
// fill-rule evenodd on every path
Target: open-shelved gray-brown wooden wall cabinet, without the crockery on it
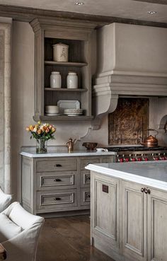
M 93 23 L 77 23 L 57 18 L 35 19 L 30 25 L 35 33 L 35 115 L 34 120 L 80 121 L 91 120 L 91 34 Z M 53 47 L 57 43 L 69 46 L 68 62 L 53 61 Z M 62 88 L 50 88 L 50 74 L 59 71 Z M 78 88 L 67 88 L 67 74 L 76 72 Z M 57 105 L 59 100 L 78 100 L 83 115 L 67 116 L 45 114 L 46 105 Z

